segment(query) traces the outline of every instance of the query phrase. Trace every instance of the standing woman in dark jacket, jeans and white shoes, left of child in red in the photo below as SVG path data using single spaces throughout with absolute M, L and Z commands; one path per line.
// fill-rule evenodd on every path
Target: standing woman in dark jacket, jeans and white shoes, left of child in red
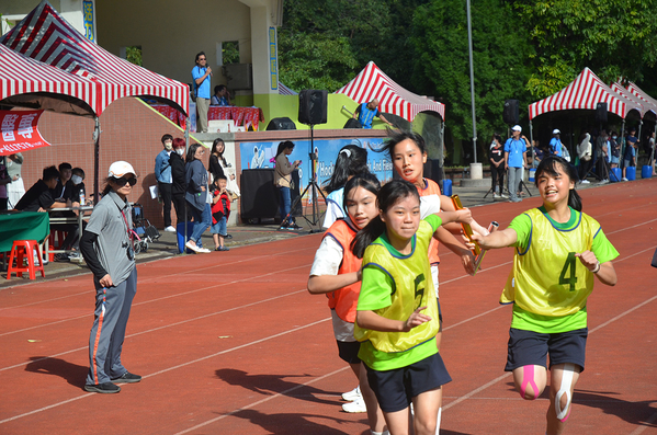
M 212 213 L 207 197 L 207 171 L 202 159 L 205 149 L 199 144 L 192 144 L 185 158 L 185 183 L 188 185 L 184 198 L 188 209 L 194 218 L 194 230 L 185 247 L 196 253 L 208 253 L 203 248 L 201 236 L 212 224 Z

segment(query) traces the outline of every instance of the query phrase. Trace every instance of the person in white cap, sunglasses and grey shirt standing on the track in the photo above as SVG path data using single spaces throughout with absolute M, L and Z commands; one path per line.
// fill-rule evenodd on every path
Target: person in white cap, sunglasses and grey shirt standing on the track
M 137 175 L 128 162 L 112 163 L 103 197 L 93 208 L 80 242 L 95 287 L 84 391 L 115 393 L 121 391 L 116 384 L 141 380 L 121 362 L 127 320 L 137 293 L 132 207 L 127 202 L 135 184 Z

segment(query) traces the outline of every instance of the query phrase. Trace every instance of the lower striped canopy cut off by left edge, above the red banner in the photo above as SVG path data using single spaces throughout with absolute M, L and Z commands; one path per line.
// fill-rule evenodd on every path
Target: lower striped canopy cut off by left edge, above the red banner
M 94 116 L 95 83 L 0 44 L 0 104 Z

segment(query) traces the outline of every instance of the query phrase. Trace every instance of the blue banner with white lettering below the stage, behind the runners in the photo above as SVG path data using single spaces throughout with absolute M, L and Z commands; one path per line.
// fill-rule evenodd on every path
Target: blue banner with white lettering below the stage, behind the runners
M 340 149 L 347 145 L 358 145 L 367 150 L 367 168 L 383 183 L 393 178 L 393 163 L 385 152 L 376 152 L 381 149 L 383 138 L 360 139 L 330 139 L 315 140 L 314 148 L 317 153 L 317 183 L 322 185 L 333 174 L 336 159 Z M 242 142 L 240 144 L 241 169 L 274 168 L 274 159 L 279 149 L 279 141 L 270 142 Z M 301 160 L 299 179 L 302 191 L 308 185 L 308 174 L 311 172 L 309 152 L 310 140 L 296 140 L 294 150 L 287 159 L 292 163 Z

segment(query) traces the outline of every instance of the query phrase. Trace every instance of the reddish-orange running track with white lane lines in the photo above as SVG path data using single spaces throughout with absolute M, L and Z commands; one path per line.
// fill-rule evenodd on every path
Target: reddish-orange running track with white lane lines
M 621 256 L 615 287 L 589 298 L 587 366 L 568 434 L 657 434 L 657 181 L 582 191 Z M 540 199 L 473 209 L 502 228 Z M 138 266 L 123 360 L 144 376 L 87 393 L 90 274 L 0 290 L 0 434 L 366 434 L 340 412 L 355 385 L 326 300 L 306 291 L 319 234 Z M 442 434 L 542 434 L 545 393 L 523 401 L 505 374 L 511 249 L 469 277 L 441 250 Z

